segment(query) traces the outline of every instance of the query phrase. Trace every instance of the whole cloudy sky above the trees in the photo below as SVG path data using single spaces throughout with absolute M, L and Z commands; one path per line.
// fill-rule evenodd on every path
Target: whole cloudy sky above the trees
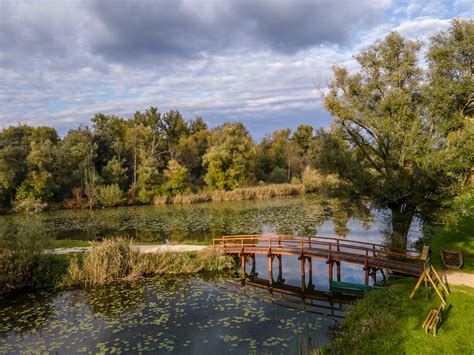
M 0 127 L 60 134 L 150 106 L 243 122 L 255 139 L 327 127 L 333 65 L 398 31 L 426 43 L 470 0 L 0 0 Z

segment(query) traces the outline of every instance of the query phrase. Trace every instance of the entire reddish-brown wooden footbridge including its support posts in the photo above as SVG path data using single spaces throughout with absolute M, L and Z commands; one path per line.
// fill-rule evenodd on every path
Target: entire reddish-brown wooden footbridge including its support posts
M 273 281 L 273 260 L 278 260 L 278 271 L 281 275 L 282 255 L 298 257 L 301 265 L 301 281 L 305 287 L 305 263 L 308 263 L 308 273 L 312 278 L 313 258 L 324 259 L 328 265 L 329 280 L 333 280 L 333 268 L 336 265 L 337 280 L 341 280 L 341 262 L 361 265 L 365 273 L 365 284 L 369 284 L 370 276 L 376 280 L 380 271 L 385 277 L 385 271 L 399 274 L 420 276 L 423 272 L 423 260 L 416 250 L 406 250 L 404 253 L 393 252 L 381 244 L 367 243 L 329 237 L 306 237 L 292 235 L 232 235 L 213 239 L 213 247 L 226 254 L 239 255 L 242 273 L 245 274 L 246 260 L 252 259 L 252 269 L 255 270 L 255 255 L 263 254 L 268 257 L 269 280 Z

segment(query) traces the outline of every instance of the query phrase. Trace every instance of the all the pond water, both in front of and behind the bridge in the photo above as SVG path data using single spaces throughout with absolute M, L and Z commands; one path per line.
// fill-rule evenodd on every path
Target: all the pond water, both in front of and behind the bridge
M 278 232 L 382 242 L 386 214 L 349 200 L 306 196 L 56 211 L 0 217 L 0 223 L 0 227 L 15 227 L 3 228 L 10 231 L 3 238 L 19 238 L 22 228 L 33 226 L 33 235 L 57 239 L 125 234 L 142 242 L 180 242 Z M 416 231 L 412 229 L 412 239 Z M 0 353 L 296 353 L 308 342 L 328 344 L 330 329 L 344 317 L 352 300 L 328 292 L 324 260 L 313 260 L 312 285 L 306 284 L 304 291 L 297 258 L 283 256 L 282 261 L 284 283 L 273 286 L 266 258 L 257 256 L 253 280 L 229 275 L 158 277 L 0 300 Z M 274 280 L 278 278 L 275 264 Z M 342 263 L 341 269 L 342 281 L 363 282 L 360 266 Z

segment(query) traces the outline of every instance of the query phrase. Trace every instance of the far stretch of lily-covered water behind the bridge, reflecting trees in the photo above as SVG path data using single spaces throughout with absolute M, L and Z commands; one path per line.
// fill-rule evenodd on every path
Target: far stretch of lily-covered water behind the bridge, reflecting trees
M 103 210 L 52 211 L 36 216 L 3 216 L 0 224 L 35 222 L 56 239 L 97 240 L 129 236 L 140 242 L 210 241 L 225 234 L 325 233 L 346 237 L 376 222 L 368 205 L 348 197 L 308 195 L 264 201 L 213 202 L 198 205 L 140 206 Z

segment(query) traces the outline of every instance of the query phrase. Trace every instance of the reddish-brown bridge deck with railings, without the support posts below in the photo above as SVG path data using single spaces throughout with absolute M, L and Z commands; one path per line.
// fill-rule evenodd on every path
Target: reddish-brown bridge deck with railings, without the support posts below
M 320 258 L 328 262 L 348 262 L 364 268 L 390 270 L 419 276 L 420 255 L 416 251 L 395 253 L 383 245 L 348 241 L 337 238 L 292 236 L 228 236 L 216 238 L 214 247 L 227 254 L 295 255 L 300 258 Z

